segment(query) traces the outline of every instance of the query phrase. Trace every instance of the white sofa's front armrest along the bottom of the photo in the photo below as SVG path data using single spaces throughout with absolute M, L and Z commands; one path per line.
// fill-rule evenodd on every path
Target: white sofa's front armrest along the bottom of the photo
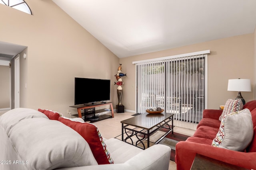
M 165 145 L 153 145 L 138 153 L 123 164 L 105 164 L 62 168 L 61 170 L 167 170 L 171 149 Z

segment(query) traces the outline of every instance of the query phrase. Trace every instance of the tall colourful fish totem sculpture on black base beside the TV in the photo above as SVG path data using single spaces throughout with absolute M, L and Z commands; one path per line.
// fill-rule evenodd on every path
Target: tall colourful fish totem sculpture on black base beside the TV
M 126 74 L 122 73 L 122 64 L 119 64 L 118 69 L 117 69 L 117 74 L 116 76 L 116 80 L 118 82 L 115 82 L 114 85 L 118 85 L 117 87 L 117 98 L 118 98 L 118 105 L 116 105 L 116 112 L 117 113 L 124 113 L 124 105 L 122 105 L 122 95 L 123 95 L 123 89 L 122 89 L 122 85 L 124 84 L 124 82 L 122 81 L 123 76 L 126 76 Z

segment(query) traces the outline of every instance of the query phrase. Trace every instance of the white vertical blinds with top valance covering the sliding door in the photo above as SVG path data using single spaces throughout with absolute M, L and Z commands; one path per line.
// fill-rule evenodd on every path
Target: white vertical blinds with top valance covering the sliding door
M 134 62 L 136 112 L 161 107 L 176 120 L 199 122 L 207 104 L 207 53 Z

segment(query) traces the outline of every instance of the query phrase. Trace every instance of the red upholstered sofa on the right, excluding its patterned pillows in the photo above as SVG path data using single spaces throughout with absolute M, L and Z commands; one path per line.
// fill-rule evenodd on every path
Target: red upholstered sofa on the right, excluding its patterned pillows
M 246 103 L 244 108 L 251 111 L 254 127 L 252 141 L 244 152 L 211 146 L 212 140 L 216 137 L 220 127 L 218 118 L 222 111 L 205 109 L 203 119 L 198 123 L 194 135 L 186 141 L 180 141 L 176 144 L 175 162 L 177 170 L 190 170 L 196 154 L 242 168 L 256 169 L 256 100 Z

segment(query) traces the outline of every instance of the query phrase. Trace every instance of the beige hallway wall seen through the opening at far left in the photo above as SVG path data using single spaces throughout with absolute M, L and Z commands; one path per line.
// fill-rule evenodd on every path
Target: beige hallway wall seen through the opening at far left
M 0 109 L 10 108 L 10 68 L 0 65 Z

